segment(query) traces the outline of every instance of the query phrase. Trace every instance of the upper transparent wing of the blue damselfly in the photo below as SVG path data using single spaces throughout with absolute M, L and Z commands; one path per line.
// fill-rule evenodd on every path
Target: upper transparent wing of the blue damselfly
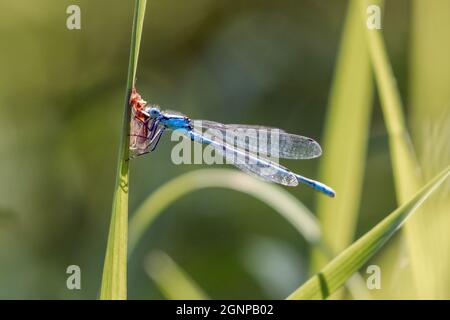
M 284 159 L 312 159 L 322 154 L 320 145 L 311 138 L 287 133 L 281 129 L 241 124 L 222 124 L 194 120 L 194 127 L 207 130 L 216 140 L 261 156 Z

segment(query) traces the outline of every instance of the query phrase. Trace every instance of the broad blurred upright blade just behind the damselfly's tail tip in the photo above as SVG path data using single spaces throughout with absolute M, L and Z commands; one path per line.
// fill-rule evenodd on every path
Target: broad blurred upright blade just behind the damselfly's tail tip
M 332 185 L 338 195 L 332 201 L 325 197 L 318 197 L 317 201 L 323 240 L 336 254 L 352 243 L 354 237 L 372 109 L 370 60 L 357 1 L 350 1 L 348 7 L 329 99 L 319 174 L 319 180 Z M 316 249 L 311 269 L 317 271 L 327 261 Z

